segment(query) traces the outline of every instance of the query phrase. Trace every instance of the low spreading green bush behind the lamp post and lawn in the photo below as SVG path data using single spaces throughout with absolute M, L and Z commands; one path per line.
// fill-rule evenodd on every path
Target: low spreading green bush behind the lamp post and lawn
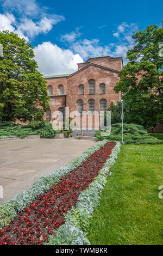
M 99 141 L 103 139 L 110 139 L 111 141 L 121 141 L 122 136 L 122 123 L 111 125 L 110 136 L 101 136 L 101 132 L 97 131 L 96 137 Z M 123 140 L 125 144 L 157 144 L 161 141 L 148 134 L 148 131 L 139 124 L 123 124 Z

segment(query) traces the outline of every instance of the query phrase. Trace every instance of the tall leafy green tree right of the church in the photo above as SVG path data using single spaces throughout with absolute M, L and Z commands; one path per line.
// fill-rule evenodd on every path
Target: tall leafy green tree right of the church
M 115 92 L 126 102 L 127 122 L 154 127 L 163 121 L 163 58 L 160 45 L 163 29 L 156 25 L 133 35 L 135 46 L 128 50 L 129 62 L 120 71 Z

